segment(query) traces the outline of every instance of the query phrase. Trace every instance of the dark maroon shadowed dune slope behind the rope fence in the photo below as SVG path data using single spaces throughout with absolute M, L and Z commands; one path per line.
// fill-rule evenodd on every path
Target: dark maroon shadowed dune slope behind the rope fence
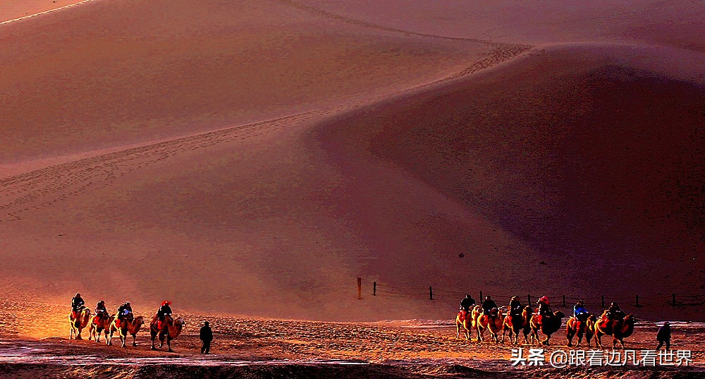
M 346 210 L 369 240 L 389 243 L 398 225 L 416 225 L 376 246 L 391 267 L 428 254 L 446 286 L 501 294 L 633 302 L 640 292 L 700 293 L 705 88 L 653 71 L 653 61 L 671 58 L 652 53 L 550 49 L 324 124 L 318 140 L 350 177 L 364 175 L 355 162 L 379 160 L 457 206 L 411 218 L 404 212 L 427 197 L 399 184 L 417 200 L 385 209 L 396 221 L 386 230 L 351 195 Z M 397 198 L 366 194 L 380 207 Z M 499 230 L 515 243 L 492 243 Z

